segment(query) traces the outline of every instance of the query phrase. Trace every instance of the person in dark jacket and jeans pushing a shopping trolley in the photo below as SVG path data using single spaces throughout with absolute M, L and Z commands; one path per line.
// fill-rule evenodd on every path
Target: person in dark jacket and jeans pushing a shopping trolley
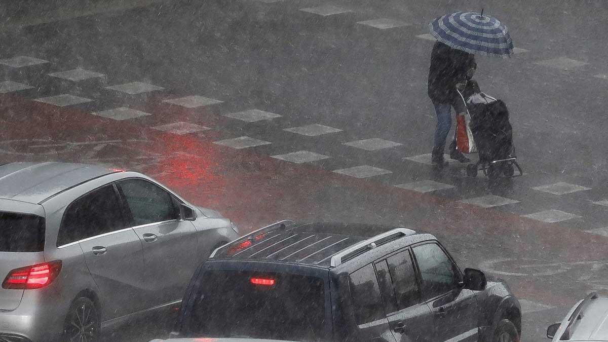
M 456 86 L 471 79 L 477 69 L 474 54 L 452 49 L 437 41 L 430 53 L 428 94 L 437 113 L 434 147 L 431 162 L 437 166 L 446 165 L 443 153 L 447 134 L 452 127 L 452 107 L 457 115 L 464 114 L 466 105 L 456 91 Z M 449 145 L 450 158 L 460 162 L 469 162 L 469 158 L 456 146 L 456 137 Z

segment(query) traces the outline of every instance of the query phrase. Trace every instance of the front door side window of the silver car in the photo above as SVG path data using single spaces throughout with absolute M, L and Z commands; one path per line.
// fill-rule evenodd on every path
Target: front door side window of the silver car
M 156 184 L 132 178 L 117 183 L 131 210 L 133 225 L 147 225 L 169 220 L 179 220 L 179 207 L 169 194 Z

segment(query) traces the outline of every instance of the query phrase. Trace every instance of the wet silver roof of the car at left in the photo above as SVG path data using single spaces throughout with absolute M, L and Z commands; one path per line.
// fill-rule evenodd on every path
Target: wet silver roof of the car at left
M 63 190 L 117 170 L 68 162 L 0 165 L 0 198 L 40 204 Z

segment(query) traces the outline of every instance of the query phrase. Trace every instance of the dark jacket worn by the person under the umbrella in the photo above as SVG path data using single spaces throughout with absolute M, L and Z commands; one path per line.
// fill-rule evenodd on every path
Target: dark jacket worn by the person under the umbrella
M 477 68 L 473 54 L 452 49 L 437 41 L 430 53 L 430 100 L 433 103 L 458 103 L 460 97 L 455 91 L 456 83 L 466 80 L 466 72 L 471 68 Z

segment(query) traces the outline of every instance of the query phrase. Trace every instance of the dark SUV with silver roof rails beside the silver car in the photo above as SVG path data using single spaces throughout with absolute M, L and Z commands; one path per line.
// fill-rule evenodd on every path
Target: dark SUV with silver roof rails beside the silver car
M 172 338 L 519 341 L 519 301 L 431 234 L 283 221 L 218 248 Z

